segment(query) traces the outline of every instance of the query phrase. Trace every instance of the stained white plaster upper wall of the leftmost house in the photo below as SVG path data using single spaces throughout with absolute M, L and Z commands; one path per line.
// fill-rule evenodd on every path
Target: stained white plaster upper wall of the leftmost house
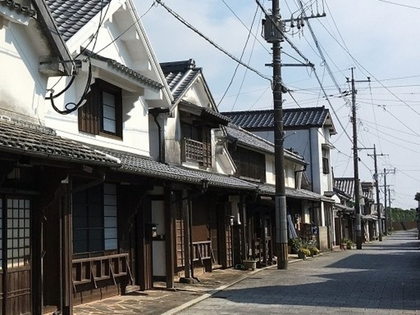
M 47 77 L 38 68 L 46 53 L 33 18 L 0 28 L 0 114 L 44 123 Z

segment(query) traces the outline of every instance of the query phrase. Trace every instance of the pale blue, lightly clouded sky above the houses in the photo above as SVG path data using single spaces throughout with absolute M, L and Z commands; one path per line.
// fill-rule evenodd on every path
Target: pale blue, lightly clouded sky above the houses
M 271 45 L 261 36 L 264 14 L 256 0 L 164 0 L 163 3 L 249 68 L 239 65 L 176 20 L 153 0 L 134 0 L 159 62 L 194 59 L 219 111 L 273 108 L 270 81 Z M 268 11 L 272 2 L 260 0 Z M 303 0 L 309 19 L 300 29 L 286 23 L 286 36 L 315 65 L 282 67 L 282 80 L 291 91 L 283 108 L 325 106 L 337 134 L 331 165 L 335 177 L 353 177 L 351 91 L 356 82 L 360 181 L 373 181 L 376 146 L 379 185 L 386 183 L 391 206 L 417 207 L 420 191 L 420 3 L 418 0 Z M 280 0 L 283 19 L 302 14 L 297 0 Z M 322 16 L 325 12 L 325 17 Z M 318 43 L 318 44 L 315 44 Z M 324 59 L 321 57 L 320 47 Z M 282 62 L 302 64 L 288 42 L 282 43 Z M 325 62 L 324 62 L 325 60 Z M 328 70 L 329 68 L 329 70 Z M 255 70 L 255 71 L 253 71 Z M 331 73 L 331 75 L 330 75 Z M 315 75 L 316 74 L 316 75 Z M 327 94 L 318 83 L 317 76 Z M 340 94 L 341 92 L 341 94 Z M 344 95 L 344 96 L 343 96 Z M 346 96 L 347 95 L 347 96 Z M 395 173 L 394 173 L 395 171 Z M 383 203 L 383 187 L 381 187 Z

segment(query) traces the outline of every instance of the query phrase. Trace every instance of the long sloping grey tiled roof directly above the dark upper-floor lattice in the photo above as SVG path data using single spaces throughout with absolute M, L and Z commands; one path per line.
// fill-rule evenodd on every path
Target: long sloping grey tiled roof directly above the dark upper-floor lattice
M 238 143 L 244 146 L 274 154 L 274 144 L 258 137 L 252 132 L 248 132 L 234 124 L 228 124 L 226 131 L 228 132 L 229 138 L 236 139 Z M 291 153 L 289 150 L 284 150 L 284 156 L 294 160 L 302 160 L 303 162 L 303 158 L 301 156 Z

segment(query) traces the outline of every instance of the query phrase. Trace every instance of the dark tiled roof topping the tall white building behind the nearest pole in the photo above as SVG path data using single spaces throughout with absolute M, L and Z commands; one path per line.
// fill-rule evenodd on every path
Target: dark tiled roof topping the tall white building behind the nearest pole
M 274 128 L 274 111 L 272 109 L 263 111 L 233 111 L 221 113 L 236 124 L 247 130 Z M 301 129 L 310 127 L 330 127 L 333 134 L 336 133 L 332 124 L 328 109 L 322 107 L 309 108 L 283 108 L 284 129 Z

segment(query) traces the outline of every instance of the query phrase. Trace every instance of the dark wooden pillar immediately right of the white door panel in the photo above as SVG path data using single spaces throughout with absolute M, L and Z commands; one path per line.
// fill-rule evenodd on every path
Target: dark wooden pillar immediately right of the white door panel
M 165 188 L 165 251 L 166 251 L 166 287 L 173 288 L 174 273 L 174 219 L 175 219 L 175 196 L 170 188 Z

